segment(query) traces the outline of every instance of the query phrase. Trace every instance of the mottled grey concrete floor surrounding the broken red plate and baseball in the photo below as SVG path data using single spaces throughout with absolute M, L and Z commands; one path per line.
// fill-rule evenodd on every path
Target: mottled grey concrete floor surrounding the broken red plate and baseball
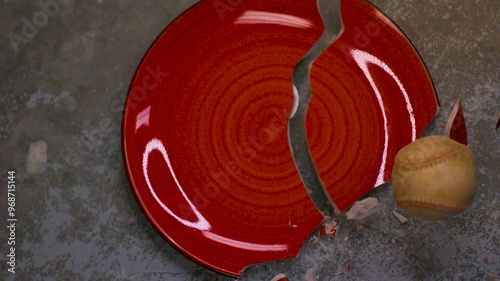
M 195 1 L 66 2 L 19 46 L 7 36 L 22 33 L 23 18 L 41 10 L 38 1 L 0 4 L 0 214 L 7 224 L 6 171 L 16 170 L 18 218 L 15 275 L 7 272 L 8 233 L 0 228 L 0 279 L 231 280 L 157 234 L 132 195 L 121 152 L 122 106 L 134 71 L 156 36 Z M 500 275 L 498 1 L 371 2 L 429 68 L 442 106 L 429 134 L 442 133 L 462 98 L 479 170 L 476 199 L 445 222 L 400 224 L 387 184 L 370 194 L 381 201 L 380 214 L 358 231 L 341 226 L 347 240 L 322 239 L 325 249 L 309 241 L 298 259 L 252 266 L 241 280 L 280 272 L 304 280 L 311 267 L 318 280 L 499 280 L 490 279 Z M 109 123 L 100 128 L 103 120 Z M 38 140 L 48 144 L 48 167 L 30 175 L 26 157 Z

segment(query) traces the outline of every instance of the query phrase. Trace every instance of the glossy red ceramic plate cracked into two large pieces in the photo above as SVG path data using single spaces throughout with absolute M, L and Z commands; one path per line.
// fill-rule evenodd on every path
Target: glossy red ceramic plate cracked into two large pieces
M 395 153 L 437 110 L 404 35 L 362 0 L 312 68 L 307 135 L 340 209 L 389 180 Z M 287 140 L 293 68 L 321 35 L 314 0 L 202 1 L 148 51 L 123 123 L 133 190 L 156 229 L 197 262 L 238 276 L 296 256 L 323 217 Z

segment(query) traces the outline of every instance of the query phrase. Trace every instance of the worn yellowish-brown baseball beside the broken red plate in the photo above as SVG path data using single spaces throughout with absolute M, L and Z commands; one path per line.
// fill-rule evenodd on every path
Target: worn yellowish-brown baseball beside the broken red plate
M 476 165 L 470 149 L 446 136 L 420 138 L 403 147 L 394 160 L 396 203 L 426 220 L 443 220 L 472 203 Z

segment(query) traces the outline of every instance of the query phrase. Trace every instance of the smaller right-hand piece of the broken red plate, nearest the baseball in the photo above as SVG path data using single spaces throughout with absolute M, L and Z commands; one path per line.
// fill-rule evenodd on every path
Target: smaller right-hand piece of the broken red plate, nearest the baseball
M 425 66 L 389 19 L 363 0 L 344 0 L 341 10 L 344 32 L 311 70 L 307 128 L 321 179 L 344 210 L 391 180 L 396 153 L 420 136 L 438 103 Z

